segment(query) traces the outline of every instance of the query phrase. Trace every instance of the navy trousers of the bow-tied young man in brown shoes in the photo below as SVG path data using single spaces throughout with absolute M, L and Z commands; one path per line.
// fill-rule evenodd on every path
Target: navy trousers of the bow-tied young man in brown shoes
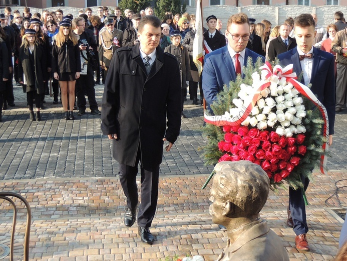
M 301 177 L 301 181 L 304 185 L 303 189 L 306 191 L 309 179 Z M 293 218 L 293 230 L 295 234 L 301 235 L 307 233 L 306 208 L 301 189 L 294 190 L 289 187 L 289 210 Z

